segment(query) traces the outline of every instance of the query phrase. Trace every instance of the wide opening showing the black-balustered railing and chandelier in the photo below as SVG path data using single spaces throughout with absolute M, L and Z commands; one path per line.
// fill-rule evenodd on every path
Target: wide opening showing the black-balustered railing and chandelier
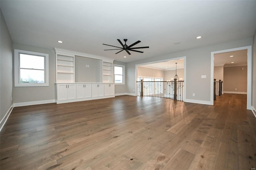
M 186 57 L 136 65 L 137 96 L 162 97 L 184 101 Z

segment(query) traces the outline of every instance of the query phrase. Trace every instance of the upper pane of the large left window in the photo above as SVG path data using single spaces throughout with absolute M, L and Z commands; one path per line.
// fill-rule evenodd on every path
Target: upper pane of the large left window
M 44 69 L 44 57 L 20 53 L 20 68 Z

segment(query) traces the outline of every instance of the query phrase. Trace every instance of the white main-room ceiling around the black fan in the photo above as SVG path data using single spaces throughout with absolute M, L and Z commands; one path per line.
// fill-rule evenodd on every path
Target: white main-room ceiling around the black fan
M 12 41 L 62 48 L 130 62 L 249 38 L 256 1 L 27 1 L 1 0 Z M 197 36 L 202 36 L 197 40 Z M 127 38 L 144 53 L 116 50 Z M 58 43 L 62 40 L 63 43 Z M 175 42 L 180 44 L 175 45 Z M 127 56 L 124 58 L 124 56 Z

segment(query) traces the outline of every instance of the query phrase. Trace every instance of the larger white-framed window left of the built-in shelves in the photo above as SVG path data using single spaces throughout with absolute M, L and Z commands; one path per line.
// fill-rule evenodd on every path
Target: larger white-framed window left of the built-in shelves
M 14 86 L 49 86 L 49 55 L 14 49 Z

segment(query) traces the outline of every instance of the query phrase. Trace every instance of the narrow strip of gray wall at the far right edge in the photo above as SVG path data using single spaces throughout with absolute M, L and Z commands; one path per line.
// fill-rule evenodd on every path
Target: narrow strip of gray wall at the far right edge
M 253 38 L 252 106 L 256 109 L 256 30 Z

